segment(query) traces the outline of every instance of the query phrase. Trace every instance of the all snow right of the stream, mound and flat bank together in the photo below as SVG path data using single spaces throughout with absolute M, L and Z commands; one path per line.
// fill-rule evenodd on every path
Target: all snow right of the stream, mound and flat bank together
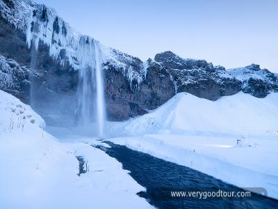
M 111 123 L 109 140 L 278 199 L 277 104 L 277 93 L 215 102 L 179 93 L 149 114 Z

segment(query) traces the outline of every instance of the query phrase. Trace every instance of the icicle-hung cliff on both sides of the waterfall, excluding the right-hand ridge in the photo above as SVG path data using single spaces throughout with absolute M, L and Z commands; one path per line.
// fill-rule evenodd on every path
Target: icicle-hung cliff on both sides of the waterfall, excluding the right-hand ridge
M 1 89 L 31 103 L 47 123 L 73 125 L 79 69 L 90 64 L 93 39 L 72 31 L 45 6 L 27 0 L 8 2 L 0 1 Z M 161 66 L 101 47 L 108 120 L 145 114 L 175 94 L 171 76 Z M 10 62 L 19 70 L 7 70 Z

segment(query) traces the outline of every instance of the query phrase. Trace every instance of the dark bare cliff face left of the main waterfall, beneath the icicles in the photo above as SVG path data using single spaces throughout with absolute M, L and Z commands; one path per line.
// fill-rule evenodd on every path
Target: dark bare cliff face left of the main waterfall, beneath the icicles
M 0 54 L 8 65 L 14 63 L 6 72 L 13 77 L 11 88 L 3 84 L 1 90 L 31 103 L 51 124 L 60 117 L 66 121 L 65 113 L 74 114 L 78 74 L 68 63 L 61 65 L 49 56 L 47 45 L 40 42 L 38 51 L 28 48 L 24 33 L 0 18 Z

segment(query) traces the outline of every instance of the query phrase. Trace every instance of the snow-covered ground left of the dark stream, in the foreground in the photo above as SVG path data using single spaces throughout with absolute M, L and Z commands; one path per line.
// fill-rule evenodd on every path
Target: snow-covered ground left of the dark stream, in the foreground
M 61 143 L 28 105 L 0 98 L 0 208 L 151 207 L 120 162 L 89 144 Z M 87 165 L 80 176 L 76 156 Z

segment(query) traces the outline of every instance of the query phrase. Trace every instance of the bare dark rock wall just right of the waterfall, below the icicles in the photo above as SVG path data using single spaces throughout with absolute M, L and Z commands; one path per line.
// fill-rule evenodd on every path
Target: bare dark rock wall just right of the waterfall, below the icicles
M 109 66 L 105 72 L 106 107 L 111 121 L 126 120 L 147 113 L 175 94 L 174 84 L 165 69 L 150 66 L 143 82 L 138 84 L 123 77 Z

